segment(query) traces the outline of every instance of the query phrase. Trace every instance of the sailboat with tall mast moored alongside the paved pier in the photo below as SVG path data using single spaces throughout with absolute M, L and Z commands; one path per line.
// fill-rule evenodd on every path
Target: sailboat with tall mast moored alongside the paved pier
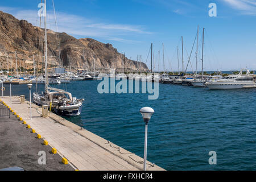
M 42 94 L 33 93 L 35 104 L 42 106 L 47 105 L 52 108 L 56 114 L 64 116 L 80 115 L 82 110 L 82 102 L 84 99 L 72 97 L 72 94 L 61 89 L 49 87 L 49 79 L 47 73 L 47 26 L 46 26 L 46 0 L 44 0 L 44 30 L 45 30 L 45 90 Z

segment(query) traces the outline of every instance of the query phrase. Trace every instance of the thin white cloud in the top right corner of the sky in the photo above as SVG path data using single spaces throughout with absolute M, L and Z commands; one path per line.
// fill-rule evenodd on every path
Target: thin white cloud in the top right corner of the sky
M 242 14 L 256 15 L 256 0 L 221 0 L 228 3 Z

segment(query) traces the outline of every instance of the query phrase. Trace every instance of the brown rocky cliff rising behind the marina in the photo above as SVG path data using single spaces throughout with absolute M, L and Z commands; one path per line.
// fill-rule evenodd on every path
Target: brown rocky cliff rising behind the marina
M 44 50 L 44 29 L 32 26 L 26 20 L 18 20 L 13 15 L 0 11 L 0 64 L 1 69 L 16 67 L 32 69 L 42 68 Z M 118 68 L 125 67 L 126 72 L 141 68 L 146 71 L 147 65 L 129 60 L 119 53 L 112 44 L 104 44 L 97 40 L 76 39 L 66 33 L 47 30 L 48 67 L 63 66 L 76 69 Z M 16 58 L 17 57 L 17 58 Z M 9 61 L 7 61 L 9 60 Z M 37 64 L 39 63 L 39 64 Z M 94 65 L 93 65 L 94 64 Z

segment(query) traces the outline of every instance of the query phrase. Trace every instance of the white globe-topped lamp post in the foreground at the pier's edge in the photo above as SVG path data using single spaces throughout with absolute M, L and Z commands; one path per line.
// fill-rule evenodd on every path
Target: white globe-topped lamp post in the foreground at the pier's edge
M 151 107 L 143 107 L 140 110 L 142 117 L 145 122 L 145 143 L 144 143 L 144 164 L 143 164 L 143 170 L 147 171 L 147 124 L 151 119 L 152 114 L 155 113 L 154 109 Z

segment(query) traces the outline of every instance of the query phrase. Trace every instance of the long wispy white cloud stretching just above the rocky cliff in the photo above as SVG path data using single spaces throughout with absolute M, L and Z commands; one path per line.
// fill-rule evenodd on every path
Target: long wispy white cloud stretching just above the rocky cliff
M 36 10 L 22 10 L 11 7 L 0 7 L 0 10 L 10 13 L 18 19 L 24 19 L 39 26 L 39 16 Z M 86 19 L 82 16 L 77 16 L 67 13 L 56 13 L 57 26 L 55 24 L 55 15 L 53 11 L 47 13 L 47 28 L 53 31 L 66 32 L 74 36 L 98 37 L 106 40 L 113 40 L 118 42 L 134 43 L 134 40 L 126 40 L 117 38 L 117 36 L 134 35 L 134 34 L 151 34 L 151 32 L 144 31 L 142 26 L 135 26 L 129 24 L 108 24 L 98 23 L 95 20 Z M 44 27 L 44 18 L 42 18 L 41 27 Z

